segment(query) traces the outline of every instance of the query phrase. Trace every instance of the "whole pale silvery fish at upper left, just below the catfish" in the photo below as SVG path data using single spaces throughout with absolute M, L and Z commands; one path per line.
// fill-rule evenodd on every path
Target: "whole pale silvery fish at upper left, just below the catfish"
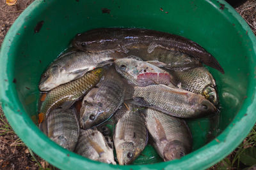
M 113 53 L 68 52 L 54 60 L 42 74 L 39 89 L 52 90 L 61 84 L 81 78 L 86 72 L 113 62 Z

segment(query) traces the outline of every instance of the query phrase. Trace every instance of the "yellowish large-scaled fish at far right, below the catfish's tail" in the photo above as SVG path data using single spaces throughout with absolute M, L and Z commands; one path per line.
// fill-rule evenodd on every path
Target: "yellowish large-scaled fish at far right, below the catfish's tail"
M 197 67 L 184 71 L 173 71 L 178 86 L 195 94 L 202 94 L 214 105 L 218 104 L 216 83 L 212 74 L 205 67 Z

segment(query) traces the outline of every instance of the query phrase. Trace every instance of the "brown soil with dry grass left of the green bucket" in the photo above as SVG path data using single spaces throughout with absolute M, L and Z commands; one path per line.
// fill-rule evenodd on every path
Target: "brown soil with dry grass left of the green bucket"
M 20 13 L 26 9 L 33 0 L 18 0 L 13 6 L 8 6 L 6 0 L 0 0 L 0 46 L 6 32 Z M 45 167 L 45 161 L 35 154 L 33 157 L 29 149 L 13 132 L 0 106 L 0 169 L 38 169 Z M 36 160 L 40 162 L 36 163 Z

